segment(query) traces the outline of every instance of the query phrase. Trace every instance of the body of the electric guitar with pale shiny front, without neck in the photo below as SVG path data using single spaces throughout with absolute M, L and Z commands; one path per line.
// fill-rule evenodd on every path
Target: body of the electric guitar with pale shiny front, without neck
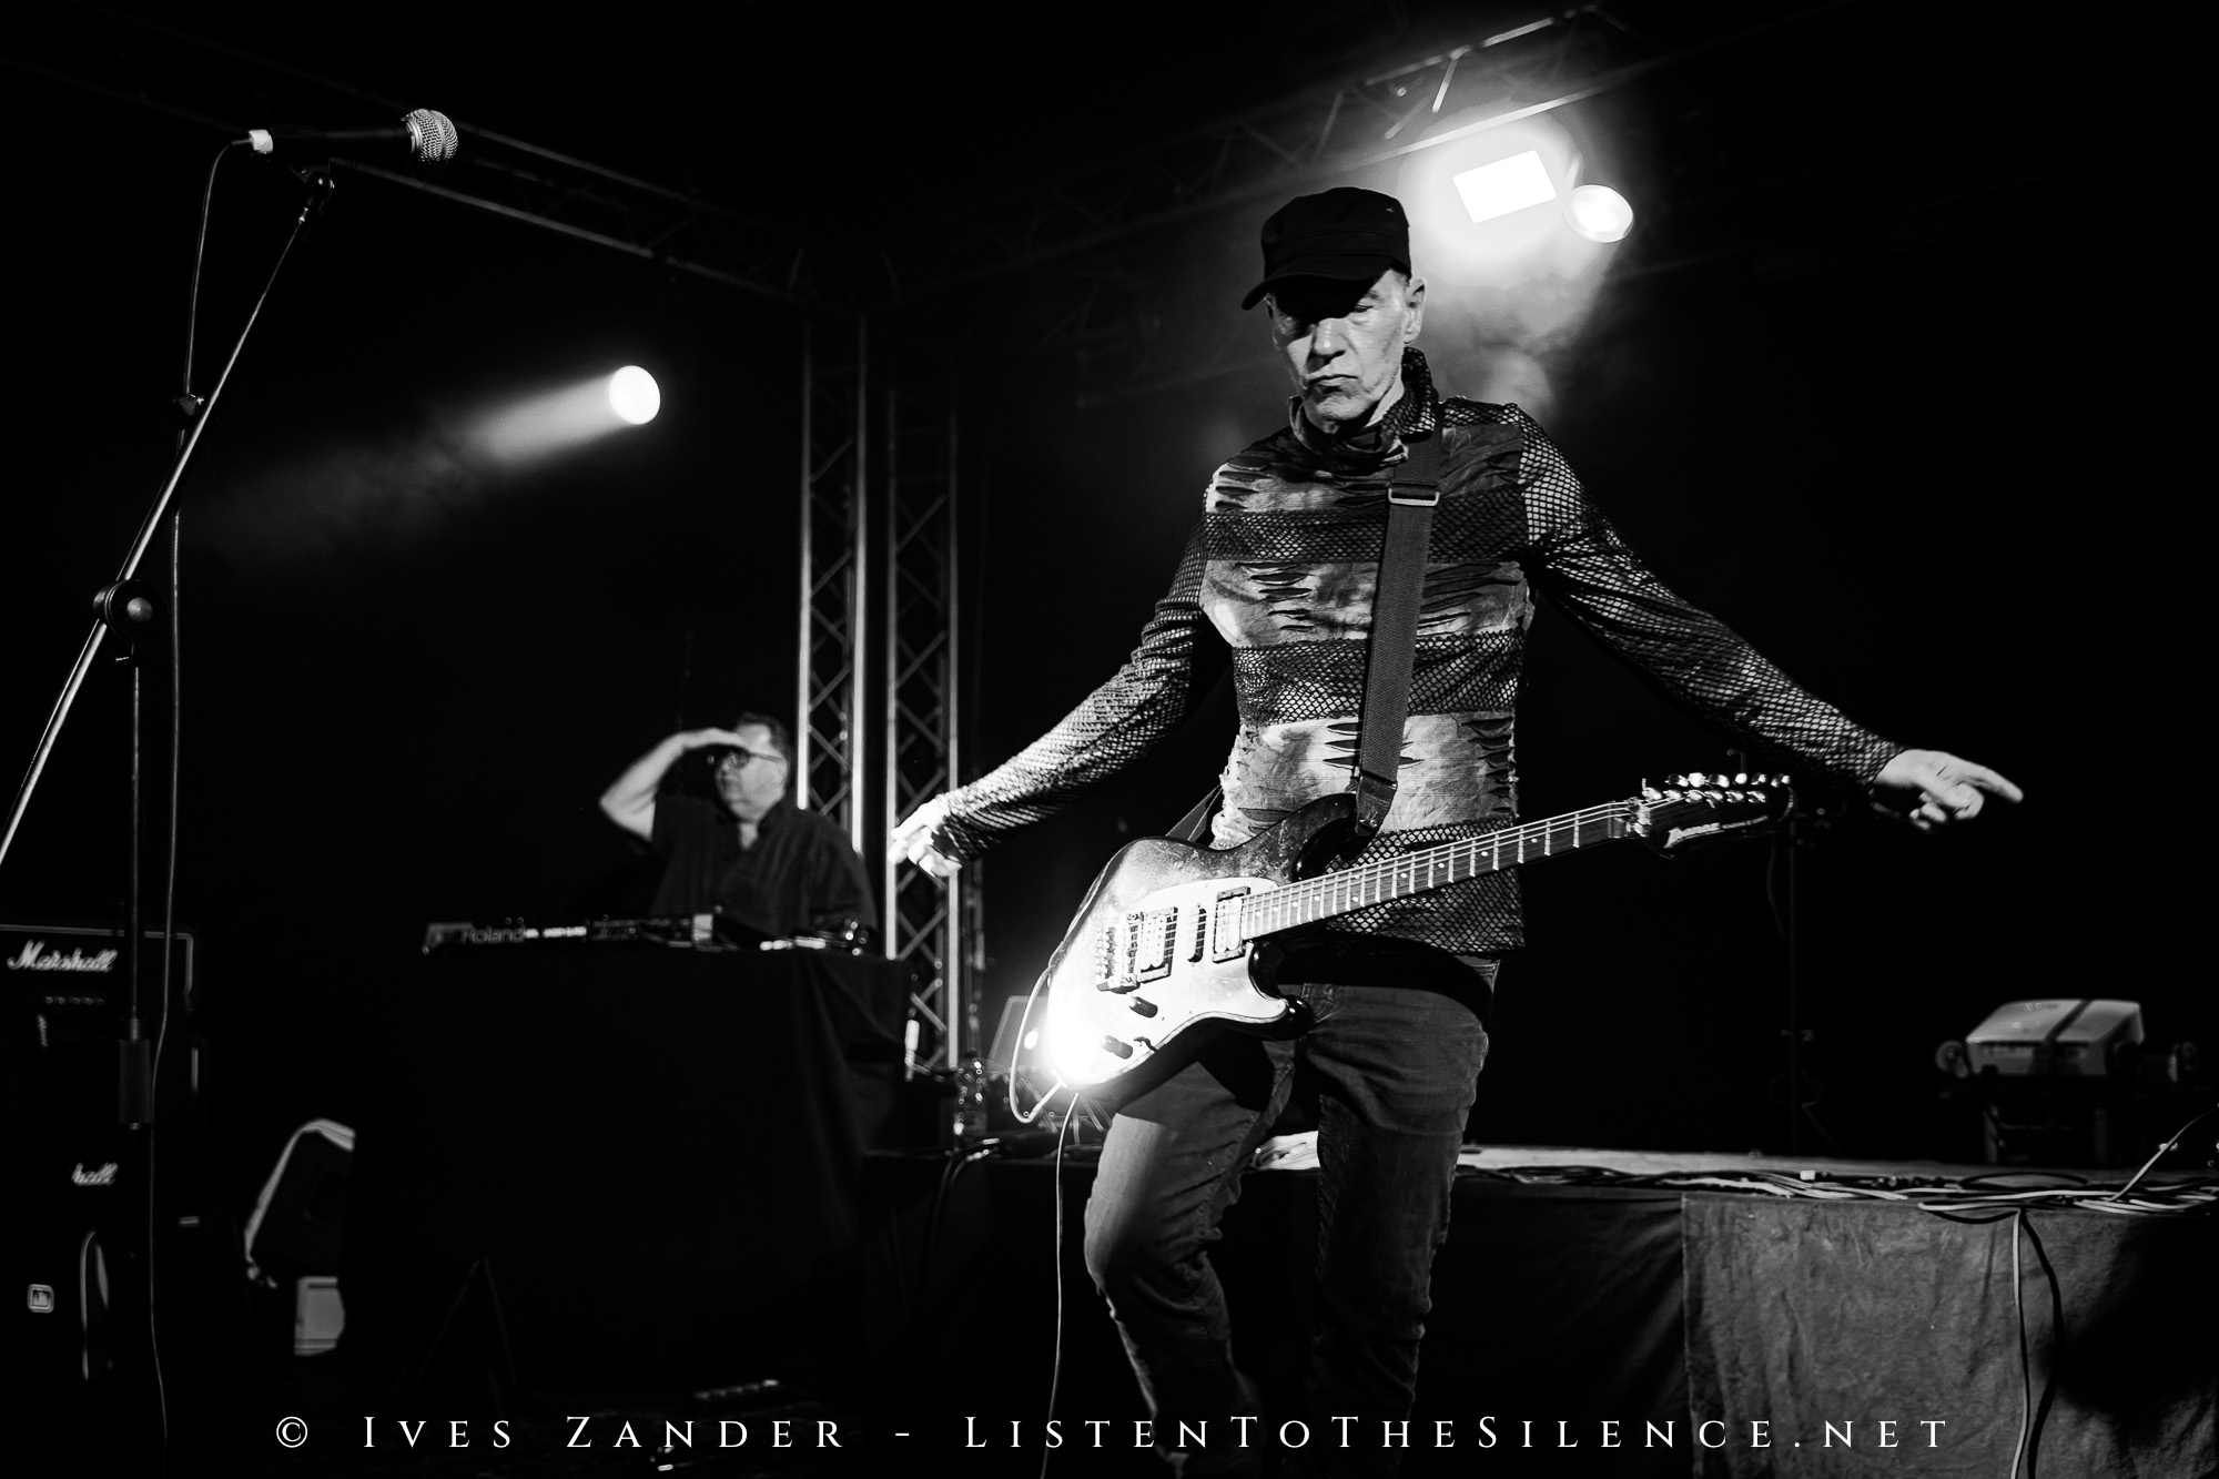
M 1307 1022 L 1271 988 L 1269 942 L 1245 939 L 1240 904 L 1323 871 L 1356 839 L 1356 799 L 1318 797 L 1238 848 L 1145 837 L 1094 879 L 1041 973 L 1050 1055 L 1065 1084 L 1118 1099 L 1194 1059 L 1214 1028 L 1291 1037 Z

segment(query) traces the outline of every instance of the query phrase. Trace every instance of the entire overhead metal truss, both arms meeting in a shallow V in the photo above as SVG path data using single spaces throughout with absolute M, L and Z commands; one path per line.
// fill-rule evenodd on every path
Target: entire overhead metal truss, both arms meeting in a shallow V
M 750 218 L 468 120 L 457 120 L 464 144 L 446 167 L 404 173 L 348 158 L 337 164 L 792 306 L 857 311 L 1085 258 L 1134 233 L 1316 187 L 1451 142 L 1456 133 L 1425 135 L 1438 118 L 1487 104 L 1496 113 L 1471 124 L 1485 129 L 1567 107 L 1842 2 L 1771 16 L 1671 51 L 1640 38 L 1602 0 L 1558 7 L 1400 67 L 1152 140 L 1103 164 L 901 222 L 877 242 L 825 242 L 792 222 Z M 288 118 L 379 124 L 435 102 L 386 98 L 89 4 L 16 18 L 0 42 L 0 64 L 233 138 L 249 124 Z M 1096 338 L 1125 333 L 1121 320 L 1129 315 L 1090 311 L 1103 291 L 1118 295 L 1121 273 L 1096 266 L 1078 264 L 1054 284 L 1063 298 L 1076 293 L 1076 304 L 1058 304 L 1054 318 Z

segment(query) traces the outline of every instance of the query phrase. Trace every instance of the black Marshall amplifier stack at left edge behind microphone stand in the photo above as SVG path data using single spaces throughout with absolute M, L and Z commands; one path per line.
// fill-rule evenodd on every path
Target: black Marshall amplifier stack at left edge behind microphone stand
M 120 930 L 0 924 L 0 1299 L 27 1401 L 71 1401 L 109 1361 L 113 1226 L 122 1213 L 115 1039 L 126 988 Z M 202 1044 L 189 1026 L 193 939 L 178 935 L 178 1004 L 155 1095 L 155 1228 L 164 1339 L 204 1301 L 189 1290 L 229 1217 L 204 1175 Z M 146 937 L 142 1002 L 162 999 L 162 942 Z M 33 1408 L 36 1410 L 36 1408 Z

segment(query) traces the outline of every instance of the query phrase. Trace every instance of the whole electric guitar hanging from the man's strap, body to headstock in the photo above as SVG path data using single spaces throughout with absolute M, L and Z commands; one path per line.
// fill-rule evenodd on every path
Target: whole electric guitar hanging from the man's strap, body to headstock
M 1624 802 L 1340 868 L 1358 839 L 1345 791 L 1236 848 L 1145 837 L 1094 879 L 1041 973 L 1047 1055 L 1078 1095 L 1132 1097 L 1216 1030 L 1300 1033 L 1305 1013 L 1274 990 L 1271 970 L 1323 919 L 1620 837 L 1662 855 L 1753 837 L 1793 799 L 1784 775 L 1675 775 Z

